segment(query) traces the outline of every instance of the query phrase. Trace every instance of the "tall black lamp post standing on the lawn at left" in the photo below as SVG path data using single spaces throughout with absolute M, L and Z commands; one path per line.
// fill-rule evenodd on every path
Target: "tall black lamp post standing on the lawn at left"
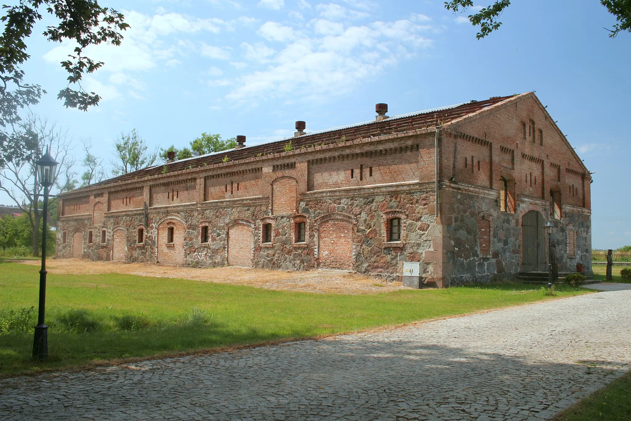
M 48 195 L 50 187 L 55 182 L 57 162 L 46 150 L 43 157 L 39 158 L 37 165 L 37 180 L 44 186 L 44 213 L 42 214 L 42 270 L 40 270 L 40 297 L 37 312 L 37 326 L 33 338 L 33 359 L 44 360 L 48 357 L 48 326 L 44 323 L 46 309 L 46 216 L 48 215 Z M 37 182 L 36 180 L 36 182 Z

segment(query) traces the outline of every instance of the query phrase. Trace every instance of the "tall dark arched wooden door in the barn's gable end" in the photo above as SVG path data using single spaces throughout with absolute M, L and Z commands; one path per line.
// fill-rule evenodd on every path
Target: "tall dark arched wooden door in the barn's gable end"
M 524 272 L 546 270 L 546 228 L 539 211 L 529 211 L 521 218 L 522 260 Z

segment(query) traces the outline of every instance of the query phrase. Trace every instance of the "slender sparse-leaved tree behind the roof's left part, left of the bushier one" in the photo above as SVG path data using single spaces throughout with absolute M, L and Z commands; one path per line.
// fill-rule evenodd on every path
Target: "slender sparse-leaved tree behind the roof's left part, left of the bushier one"
M 146 167 L 151 167 L 158 158 L 158 150 L 149 151 L 149 146 L 140 137 L 136 129 L 121 136 L 114 142 L 114 157 L 112 166 L 115 175 L 127 174 Z

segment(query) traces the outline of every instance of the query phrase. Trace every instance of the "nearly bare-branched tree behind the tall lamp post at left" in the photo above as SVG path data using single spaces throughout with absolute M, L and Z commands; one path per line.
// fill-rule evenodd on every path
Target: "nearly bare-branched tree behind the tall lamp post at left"
M 40 119 L 32 114 L 21 122 L 23 133 L 32 136 L 30 142 L 32 149 L 28 150 L 28 155 L 22 158 L 10 158 L 4 168 L 0 169 L 0 191 L 8 194 L 9 198 L 26 214 L 30 224 L 30 247 L 33 255 L 38 256 L 40 244 L 40 232 L 42 221 L 41 198 L 43 193 L 42 185 L 35 181 L 35 162 L 43 155 L 45 150 L 50 150 L 50 155 L 59 162 L 57 165 L 57 183 L 53 187 L 51 194 L 64 189 L 71 189 L 76 186 L 73 180 L 74 172 L 72 167 L 74 160 L 71 157 L 73 145 L 71 139 L 65 131 L 56 128 L 55 124 L 50 124 L 45 119 Z M 49 201 L 49 209 L 56 205 L 56 198 Z

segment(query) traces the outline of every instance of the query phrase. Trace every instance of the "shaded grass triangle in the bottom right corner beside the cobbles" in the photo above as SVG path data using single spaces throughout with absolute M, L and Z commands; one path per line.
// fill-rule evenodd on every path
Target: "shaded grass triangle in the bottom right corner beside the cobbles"
M 552 421 L 631 420 L 631 371 L 559 413 Z

